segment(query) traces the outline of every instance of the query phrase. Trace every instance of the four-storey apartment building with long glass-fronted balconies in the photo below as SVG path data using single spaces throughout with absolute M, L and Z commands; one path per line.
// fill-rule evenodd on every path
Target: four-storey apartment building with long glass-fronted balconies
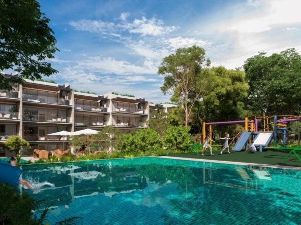
M 0 90 L 0 156 L 14 155 L 2 147 L 2 142 L 11 135 L 27 140 L 31 148 L 25 148 L 23 155 L 32 155 L 36 148 L 47 151 L 63 148 L 64 141 L 65 149 L 70 147 L 69 137 L 63 140 L 51 133 L 102 130 L 108 125 L 129 133 L 147 128 L 152 110 L 168 110 L 149 104 L 144 98 L 112 92 L 103 95 L 77 92 L 69 84 L 25 79 L 23 85 L 13 88 L 13 91 Z

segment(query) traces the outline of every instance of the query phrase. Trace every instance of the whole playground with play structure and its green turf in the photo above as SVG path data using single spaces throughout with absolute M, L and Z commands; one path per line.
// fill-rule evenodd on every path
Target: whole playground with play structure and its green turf
M 227 154 L 226 152 L 220 154 L 223 148 L 222 140 L 212 141 L 209 139 L 208 142 L 210 146 L 213 147 L 214 156 L 208 154 L 204 156 L 200 155 L 199 152 L 203 149 L 201 144 L 186 145 L 186 147 L 191 149 L 189 154 L 170 154 L 169 156 L 300 167 L 301 157 L 299 154 L 301 154 L 301 148 L 299 121 L 301 121 L 301 118 L 297 116 L 275 115 L 273 117 L 257 117 L 254 120 L 245 118 L 244 121 L 203 123 L 202 143 L 205 142 L 206 134 L 213 133 L 213 126 L 244 124 L 244 129 L 229 139 L 231 154 Z M 297 127 L 296 123 L 298 123 Z M 297 134 L 292 132 L 288 133 L 289 128 L 292 126 L 295 126 L 294 131 L 297 130 Z M 251 141 L 254 142 L 254 146 L 257 149 L 256 154 L 252 152 L 245 153 L 246 149 L 250 147 Z

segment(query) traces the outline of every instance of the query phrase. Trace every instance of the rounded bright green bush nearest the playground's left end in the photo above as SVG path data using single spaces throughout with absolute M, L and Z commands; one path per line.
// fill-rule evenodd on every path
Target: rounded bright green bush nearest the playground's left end
M 171 126 L 164 131 L 163 145 L 171 151 L 179 151 L 183 145 L 191 142 L 190 128 Z

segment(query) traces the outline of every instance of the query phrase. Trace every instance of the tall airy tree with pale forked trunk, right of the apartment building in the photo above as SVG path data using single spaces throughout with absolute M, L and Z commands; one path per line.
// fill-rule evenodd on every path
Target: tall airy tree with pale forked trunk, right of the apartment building
M 185 111 L 185 126 L 188 127 L 194 103 L 206 93 L 207 80 L 201 72 L 209 66 L 205 59 L 205 50 L 196 46 L 179 48 L 174 54 L 163 58 L 158 74 L 163 75 L 164 84 L 161 91 L 171 95 L 172 102 L 179 102 Z M 194 98 L 189 98 L 193 93 Z

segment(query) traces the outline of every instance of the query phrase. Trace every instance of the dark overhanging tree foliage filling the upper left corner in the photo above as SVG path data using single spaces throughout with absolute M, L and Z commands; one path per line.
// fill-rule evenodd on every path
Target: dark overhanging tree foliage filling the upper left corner
M 0 89 L 23 84 L 23 78 L 42 79 L 57 70 L 44 60 L 54 58 L 54 32 L 36 0 L 0 1 L 0 71 L 14 69 L 19 77 L 0 76 Z

